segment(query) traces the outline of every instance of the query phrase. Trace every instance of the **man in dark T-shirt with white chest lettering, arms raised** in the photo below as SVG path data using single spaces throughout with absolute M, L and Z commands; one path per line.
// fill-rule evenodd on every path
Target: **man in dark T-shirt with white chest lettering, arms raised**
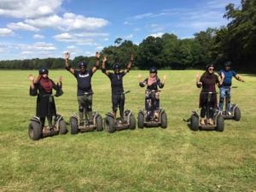
M 77 89 L 77 98 L 79 102 L 79 126 L 84 126 L 84 118 L 85 125 L 93 125 L 92 119 L 92 94 L 93 91 L 91 89 L 91 78 L 93 73 L 96 73 L 96 70 L 100 68 L 100 55 L 96 52 L 96 65 L 87 70 L 87 61 L 79 62 L 79 69 L 74 70 L 68 63 L 68 59 L 70 57 L 70 53 L 65 54 L 66 58 L 66 69 L 77 79 L 78 89 Z M 84 98 L 84 93 L 87 94 L 87 97 Z

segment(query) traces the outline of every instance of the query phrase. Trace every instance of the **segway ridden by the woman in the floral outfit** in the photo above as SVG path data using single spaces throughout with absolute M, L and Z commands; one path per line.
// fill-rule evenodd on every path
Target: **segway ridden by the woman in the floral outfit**
M 143 129 L 145 127 L 158 127 L 166 128 L 167 127 L 167 115 L 164 108 L 159 109 L 159 119 L 154 118 L 154 101 L 156 100 L 155 94 L 160 92 L 160 90 L 148 90 L 151 91 L 151 117 L 147 119 L 147 114 L 145 113 L 144 108 L 141 108 L 138 113 L 138 128 Z

